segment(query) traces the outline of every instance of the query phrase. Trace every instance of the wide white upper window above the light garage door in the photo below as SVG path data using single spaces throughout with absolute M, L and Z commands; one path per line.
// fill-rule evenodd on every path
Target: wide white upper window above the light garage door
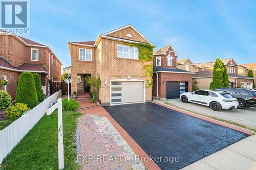
M 128 45 L 117 45 L 117 57 L 118 58 L 129 58 L 129 59 L 138 59 L 138 48 Z

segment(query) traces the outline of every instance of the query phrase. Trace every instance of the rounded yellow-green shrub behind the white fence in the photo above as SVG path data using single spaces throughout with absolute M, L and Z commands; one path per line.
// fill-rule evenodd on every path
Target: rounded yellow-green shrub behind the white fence
M 7 109 L 6 115 L 7 115 L 7 117 L 9 117 L 11 119 L 17 119 L 22 115 L 22 113 L 24 113 L 25 111 L 28 111 L 28 110 L 29 110 L 29 108 L 26 104 L 16 103 L 14 106 L 10 106 Z

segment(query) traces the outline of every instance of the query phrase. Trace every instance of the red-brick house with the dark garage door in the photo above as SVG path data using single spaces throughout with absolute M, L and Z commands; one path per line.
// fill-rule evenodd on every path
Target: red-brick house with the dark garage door
M 172 44 L 154 51 L 152 94 L 155 98 L 177 99 L 180 93 L 192 91 L 195 72 L 178 69 L 177 58 Z

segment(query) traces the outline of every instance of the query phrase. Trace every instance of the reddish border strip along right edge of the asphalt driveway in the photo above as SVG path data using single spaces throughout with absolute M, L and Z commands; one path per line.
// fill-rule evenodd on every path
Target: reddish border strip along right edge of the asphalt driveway
M 229 124 L 227 124 L 227 123 L 220 122 L 220 121 L 215 120 L 215 119 L 207 118 L 207 117 L 204 117 L 204 116 L 201 116 L 201 115 L 192 113 L 192 112 L 188 112 L 188 111 L 186 111 L 186 110 L 182 110 L 182 109 L 179 109 L 179 108 L 176 108 L 176 107 L 172 107 L 172 106 L 169 106 L 169 105 L 161 104 L 161 103 L 158 103 L 158 102 L 155 102 L 155 101 L 153 101 L 153 103 L 155 103 L 155 104 L 157 104 L 157 105 L 160 105 L 160 106 L 163 106 L 163 107 L 166 107 L 166 108 L 169 108 L 169 109 L 173 109 L 173 110 L 179 111 L 179 112 L 181 112 L 181 113 L 184 113 L 184 114 L 187 114 L 187 115 L 190 115 L 190 116 L 193 116 L 193 117 L 202 119 L 202 120 L 205 120 L 205 121 L 210 122 L 210 123 L 213 123 L 213 124 L 217 124 L 217 125 L 220 125 L 220 126 L 224 126 L 224 127 L 227 127 L 227 128 L 233 129 L 233 130 L 236 130 L 236 131 L 238 131 L 238 132 L 245 133 L 245 134 L 247 134 L 247 135 L 252 135 L 252 134 L 253 134 L 252 132 L 247 131 L 247 130 L 245 130 L 245 129 L 242 129 L 242 128 L 239 128 L 239 127 L 236 127 L 236 126 L 232 126 L 232 125 L 229 125 Z

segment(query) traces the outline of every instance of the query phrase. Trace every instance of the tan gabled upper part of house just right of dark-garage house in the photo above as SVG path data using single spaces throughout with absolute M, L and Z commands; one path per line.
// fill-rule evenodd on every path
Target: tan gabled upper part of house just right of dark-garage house
M 177 61 L 177 68 L 186 71 L 198 72 L 199 67 L 201 67 L 201 65 L 197 65 L 196 63 L 192 62 L 189 58 Z

